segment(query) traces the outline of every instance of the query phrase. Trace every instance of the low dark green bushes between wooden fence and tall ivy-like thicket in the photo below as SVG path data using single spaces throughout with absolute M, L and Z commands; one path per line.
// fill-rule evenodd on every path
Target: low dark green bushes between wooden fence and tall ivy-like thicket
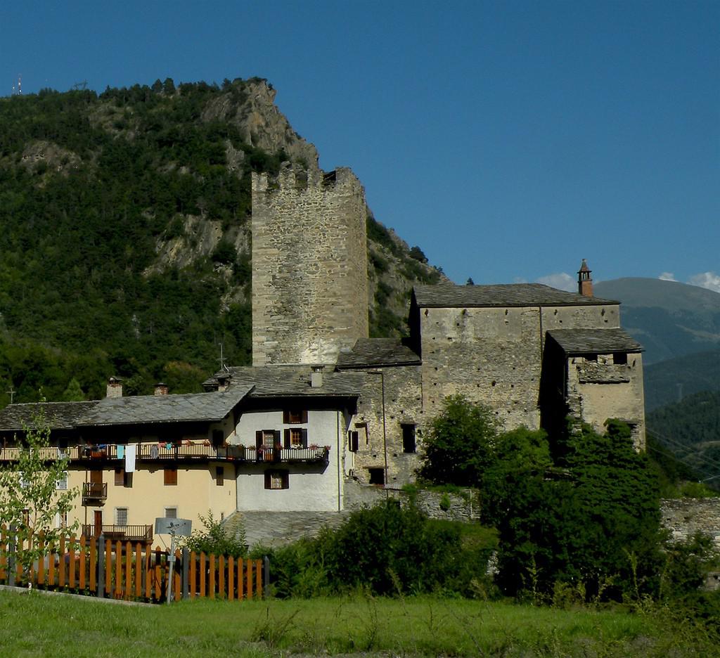
M 352 513 L 336 531 L 252 555 L 270 555 L 276 596 L 307 598 L 357 588 L 374 595 L 469 595 L 473 581 L 487 580 L 491 551 L 492 542 L 464 533 L 462 523 L 428 520 L 414 505 L 389 500 Z

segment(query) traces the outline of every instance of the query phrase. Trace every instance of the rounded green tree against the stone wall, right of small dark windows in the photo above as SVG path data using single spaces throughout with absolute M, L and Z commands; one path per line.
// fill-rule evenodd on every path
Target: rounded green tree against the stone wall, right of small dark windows
M 492 461 L 498 428 L 500 423 L 486 407 L 462 395 L 448 397 L 430 423 L 418 474 L 437 485 L 479 487 Z

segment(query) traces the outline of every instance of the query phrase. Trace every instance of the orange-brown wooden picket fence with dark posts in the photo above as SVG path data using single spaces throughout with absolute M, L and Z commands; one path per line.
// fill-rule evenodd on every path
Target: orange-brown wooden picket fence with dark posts
M 23 572 L 18 552 L 40 546 L 44 554 Z M 42 533 L 21 541 L 14 531 L 0 527 L 0 585 L 38 587 L 44 590 L 165 603 L 168 594 L 171 556 L 140 542 L 112 541 L 73 535 L 48 545 Z M 176 550 L 172 599 L 261 598 L 268 589 L 268 559 L 240 559 Z

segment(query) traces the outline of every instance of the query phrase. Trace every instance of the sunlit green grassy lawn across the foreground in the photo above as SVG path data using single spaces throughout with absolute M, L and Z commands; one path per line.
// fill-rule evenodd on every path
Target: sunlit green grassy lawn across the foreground
M 196 600 L 106 605 L 0 591 L 0 656 L 369 654 L 625 657 L 719 655 L 657 615 L 441 598 Z

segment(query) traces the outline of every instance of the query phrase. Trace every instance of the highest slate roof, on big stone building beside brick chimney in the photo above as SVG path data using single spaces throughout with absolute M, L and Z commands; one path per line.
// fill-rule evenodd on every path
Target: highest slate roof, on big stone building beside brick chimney
M 413 297 L 421 308 L 600 306 L 619 304 L 612 299 L 585 297 L 544 284 L 498 284 L 492 286 L 415 286 Z

